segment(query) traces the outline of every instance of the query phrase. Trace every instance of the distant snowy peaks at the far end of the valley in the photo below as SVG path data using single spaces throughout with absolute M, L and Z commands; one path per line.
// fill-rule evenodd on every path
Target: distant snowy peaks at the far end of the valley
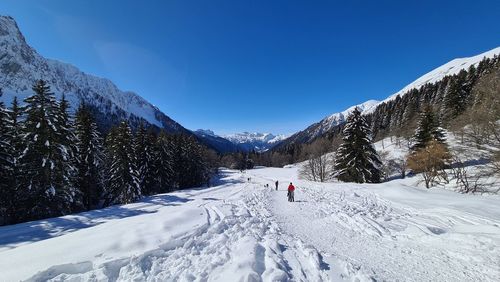
M 274 135 L 271 133 L 235 133 L 223 136 L 225 139 L 240 146 L 245 151 L 255 150 L 264 152 L 276 146 L 286 138 L 286 135 Z

